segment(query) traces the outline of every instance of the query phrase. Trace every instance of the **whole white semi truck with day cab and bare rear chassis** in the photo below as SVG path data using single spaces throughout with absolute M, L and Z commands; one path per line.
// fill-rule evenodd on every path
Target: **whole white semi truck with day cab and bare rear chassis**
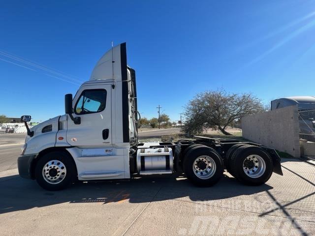
M 282 175 L 274 149 L 238 140 L 194 136 L 179 142 L 138 139 L 135 71 L 127 65 L 126 43 L 113 47 L 95 65 L 74 98 L 65 95 L 65 115 L 31 129 L 18 158 L 21 177 L 47 190 L 76 180 L 129 179 L 138 175 L 185 173 L 198 186 L 211 186 L 226 169 L 250 185 Z

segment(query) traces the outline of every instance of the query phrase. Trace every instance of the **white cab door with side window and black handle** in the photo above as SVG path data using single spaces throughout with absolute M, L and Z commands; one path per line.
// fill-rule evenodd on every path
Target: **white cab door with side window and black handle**
M 112 146 L 110 85 L 81 87 L 73 99 L 73 110 L 81 123 L 75 124 L 68 117 L 67 143 L 79 148 Z

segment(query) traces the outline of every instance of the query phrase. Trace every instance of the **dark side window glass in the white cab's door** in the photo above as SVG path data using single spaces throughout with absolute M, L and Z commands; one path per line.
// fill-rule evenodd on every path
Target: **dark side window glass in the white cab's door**
M 105 106 L 105 89 L 84 90 L 74 107 L 74 113 L 77 115 L 97 113 L 103 111 Z

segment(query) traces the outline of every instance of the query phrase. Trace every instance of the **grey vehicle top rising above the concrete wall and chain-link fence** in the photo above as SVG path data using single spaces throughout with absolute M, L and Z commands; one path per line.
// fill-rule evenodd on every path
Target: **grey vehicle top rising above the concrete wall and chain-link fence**
M 283 97 L 271 101 L 271 110 L 297 105 L 299 111 L 315 110 L 315 96 Z

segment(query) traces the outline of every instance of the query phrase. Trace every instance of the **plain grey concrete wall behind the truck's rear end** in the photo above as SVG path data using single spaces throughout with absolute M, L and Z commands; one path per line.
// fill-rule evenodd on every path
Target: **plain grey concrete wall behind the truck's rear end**
M 300 157 L 299 118 L 297 106 L 242 118 L 245 139 Z

